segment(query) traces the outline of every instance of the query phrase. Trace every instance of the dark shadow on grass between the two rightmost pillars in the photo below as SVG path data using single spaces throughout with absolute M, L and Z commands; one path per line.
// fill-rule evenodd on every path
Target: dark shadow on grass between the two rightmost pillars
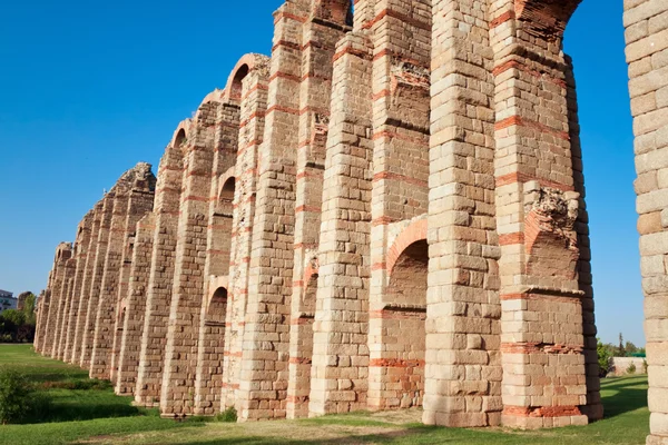
M 613 392 L 602 397 L 605 418 L 647 407 L 647 380 L 644 377 L 603 379 L 601 390 Z

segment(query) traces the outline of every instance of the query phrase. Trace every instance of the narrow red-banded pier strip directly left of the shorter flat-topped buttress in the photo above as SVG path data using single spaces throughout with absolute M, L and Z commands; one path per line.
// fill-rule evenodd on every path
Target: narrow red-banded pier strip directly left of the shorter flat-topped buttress
M 303 73 L 299 85 L 294 278 L 289 322 L 288 418 L 308 415 L 317 246 L 332 100 L 332 60 L 336 42 L 351 30 L 350 11 L 350 0 L 313 1 L 312 14 L 302 30 Z

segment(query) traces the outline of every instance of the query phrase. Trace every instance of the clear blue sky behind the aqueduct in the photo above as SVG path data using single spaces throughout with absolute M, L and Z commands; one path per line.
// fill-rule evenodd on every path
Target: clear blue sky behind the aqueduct
M 0 28 L 0 288 L 46 286 L 53 249 L 126 169 L 157 170 L 177 123 L 246 52 L 269 53 L 282 0 L 7 2 Z M 578 81 L 603 340 L 642 335 L 621 1 L 567 30 Z

